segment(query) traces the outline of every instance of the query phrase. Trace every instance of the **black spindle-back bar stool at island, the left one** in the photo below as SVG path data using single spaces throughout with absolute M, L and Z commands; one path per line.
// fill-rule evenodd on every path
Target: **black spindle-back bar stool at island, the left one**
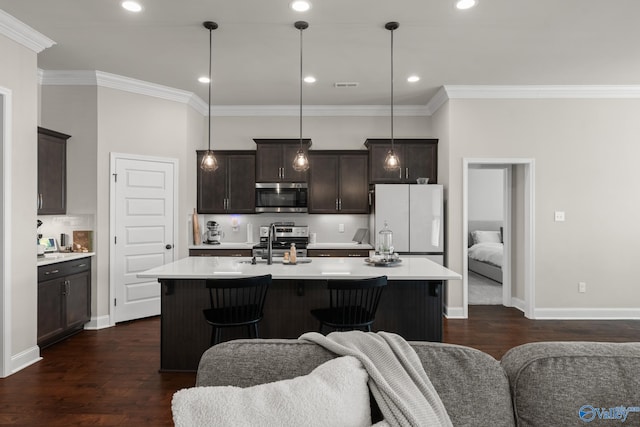
M 203 310 L 204 318 L 213 329 L 211 345 L 220 342 L 220 330 L 233 326 L 247 326 L 249 337 L 258 338 L 258 322 L 262 320 L 271 275 L 241 279 L 209 279 L 210 307 Z

